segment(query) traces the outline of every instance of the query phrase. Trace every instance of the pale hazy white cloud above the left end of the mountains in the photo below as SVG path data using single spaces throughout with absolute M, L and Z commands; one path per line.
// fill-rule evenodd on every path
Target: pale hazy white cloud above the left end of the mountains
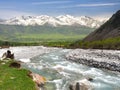
M 9 19 L 16 16 L 22 15 L 35 15 L 32 13 L 21 12 L 21 11 L 14 11 L 14 10 L 0 10 L 0 19 Z

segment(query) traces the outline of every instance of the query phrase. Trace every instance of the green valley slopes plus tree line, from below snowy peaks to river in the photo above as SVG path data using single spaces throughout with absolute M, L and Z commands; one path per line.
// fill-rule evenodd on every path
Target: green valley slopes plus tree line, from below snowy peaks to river
M 66 46 L 82 40 L 95 28 L 85 26 L 22 26 L 0 24 L 0 46 Z M 67 45 L 67 46 L 68 46 Z

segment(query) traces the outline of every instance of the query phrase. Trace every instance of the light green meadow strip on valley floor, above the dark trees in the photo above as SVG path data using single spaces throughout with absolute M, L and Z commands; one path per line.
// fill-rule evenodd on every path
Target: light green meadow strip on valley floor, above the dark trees
M 64 42 L 64 41 L 76 41 L 83 39 L 86 35 L 63 35 L 63 34 L 23 34 L 16 36 L 14 40 L 11 38 L 10 42 L 22 42 L 22 43 L 34 43 L 34 42 Z M 3 39 L 7 40 L 7 39 Z M 17 41 L 16 41 L 17 40 Z

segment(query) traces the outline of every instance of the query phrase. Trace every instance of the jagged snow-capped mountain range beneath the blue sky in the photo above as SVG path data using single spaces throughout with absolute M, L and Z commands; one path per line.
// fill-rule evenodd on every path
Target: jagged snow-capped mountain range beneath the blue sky
M 0 22 L 0 24 L 8 24 L 8 25 L 52 25 L 52 26 L 60 26 L 60 25 L 82 25 L 91 28 L 98 28 L 104 22 L 95 20 L 93 18 L 87 16 L 74 17 L 70 15 L 61 15 L 57 17 L 51 17 L 47 15 L 41 16 L 20 16 L 11 18 L 9 20 L 4 20 Z

